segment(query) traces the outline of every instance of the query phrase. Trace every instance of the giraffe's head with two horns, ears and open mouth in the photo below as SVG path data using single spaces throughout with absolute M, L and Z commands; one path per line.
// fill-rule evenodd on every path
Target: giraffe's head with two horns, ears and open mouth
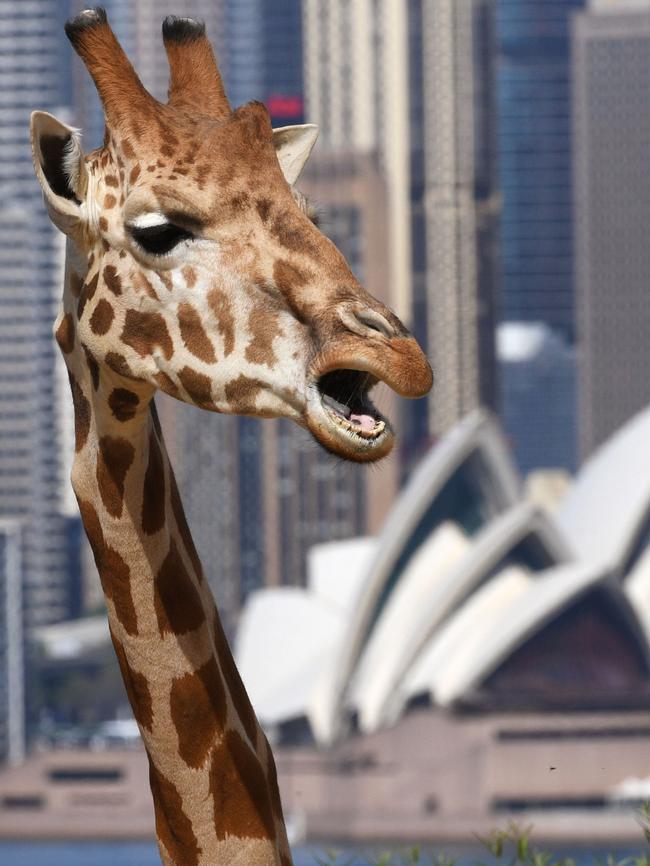
M 85 156 L 42 112 L 32 144 L 50 216 L 83 263 L 68 330 L 86 356 L 206 409 L 292 418 L 345 458 L 387 454 L 370 389 L 419 397 L 431 369 L 306 213 L 294 184 L 316 128 L 273 130 L 259 103 L 233 111 L 196 21 L 163 24 L 166 104 L 102 9 L 66 32 L 102 100 L 104 145 Z

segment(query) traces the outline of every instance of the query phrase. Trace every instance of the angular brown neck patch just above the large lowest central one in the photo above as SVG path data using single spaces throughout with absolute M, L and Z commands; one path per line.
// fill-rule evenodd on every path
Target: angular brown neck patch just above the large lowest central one
M 202 767 L 215 738 L 226 724 L 226 692 L 214 658 L 193 674 L 172 682 L 171 718 L 178 735 L 178 750 L 189 767 Z

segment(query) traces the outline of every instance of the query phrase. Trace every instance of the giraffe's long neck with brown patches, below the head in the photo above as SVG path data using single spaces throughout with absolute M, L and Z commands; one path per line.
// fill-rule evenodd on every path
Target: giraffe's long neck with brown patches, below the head
M 149 758 L 162 860 L 291 866 L 273 757 L 202 575 L 153 389 L 87 356 L 75 308 L 66 291 L 72 484 Z

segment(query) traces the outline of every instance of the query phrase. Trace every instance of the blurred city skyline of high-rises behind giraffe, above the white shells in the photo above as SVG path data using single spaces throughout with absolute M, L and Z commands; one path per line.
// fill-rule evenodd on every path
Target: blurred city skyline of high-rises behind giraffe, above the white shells
M 83 5 L 38 0 L 28 13 L 0 2 L 0 517 L 21 525 L 26 636 L 103 604 L 68 482 L 72 410 L 51 337 L 63 239 L 42 207 L 28 144 L 37 108 L 79 124 L 86 150 L 101 143 L 93 84 L 63 33 Z M 275 126 L 320 125 L 301 188 L 437 376 L 428 400 L 382 397 L 397 416 L 400 453 L 372 472 L 337 464 L 287 422 L 160 400 L 229 634 L 251 591 L 304 583 L 313 545 L 376 535 L 418 460 L 477 407 L 499 415 L 523 470 L 575 471 L 650 400 L 638 375 L 650 275 L 644 196 L 630 209 L 645 190 L 639 118 L 650 106 L 642 51 L 625 42 L 635 28 L 645 34 L 650 4 L 105 5 L 157 98 L 168 77 L 161 20 L 180 12 L 205 20 L 233 105 L 259 99 Z M 620 51 L 615 82 L 605 50 Z M 620 165 L 609 165 L 613 150 L 625 154 Z

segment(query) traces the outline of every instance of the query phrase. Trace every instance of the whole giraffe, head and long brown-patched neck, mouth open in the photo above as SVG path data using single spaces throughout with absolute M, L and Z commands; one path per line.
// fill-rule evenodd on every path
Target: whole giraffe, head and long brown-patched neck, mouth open
M 67 236 L 55 337 L 75 417 L 72 485 L 150 766 L 165 866 L 290 866 L 271 749 L 184 516 L 155 392 L 286 417 L 332 453 L 387 454 L 368 396 L 418 397 L 429 364 L 310 221 L 295 182 L 311 125 L 232 110 L 201 22 L 168 17 L 167 103 L 103 9 L 66 33 L 101 98 L 104 144 L 34 112 L 34 166 Z

